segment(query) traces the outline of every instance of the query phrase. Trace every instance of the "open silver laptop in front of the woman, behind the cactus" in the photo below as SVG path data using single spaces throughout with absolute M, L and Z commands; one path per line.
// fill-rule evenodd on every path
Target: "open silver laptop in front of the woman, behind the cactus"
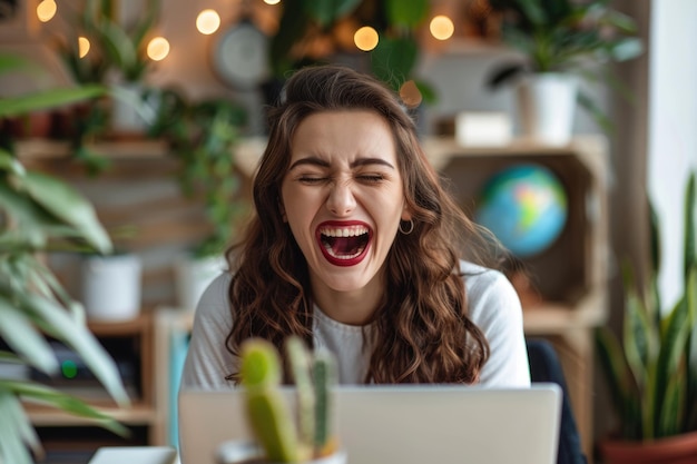
M 284 387 L 288 401 L 293 389 Z M 225 442 L 251 438 L 239 389 L 179 392 L 181 464 L 219 464 Z M 348 464 L 554 464 L 561 388 L 337 386 Z

